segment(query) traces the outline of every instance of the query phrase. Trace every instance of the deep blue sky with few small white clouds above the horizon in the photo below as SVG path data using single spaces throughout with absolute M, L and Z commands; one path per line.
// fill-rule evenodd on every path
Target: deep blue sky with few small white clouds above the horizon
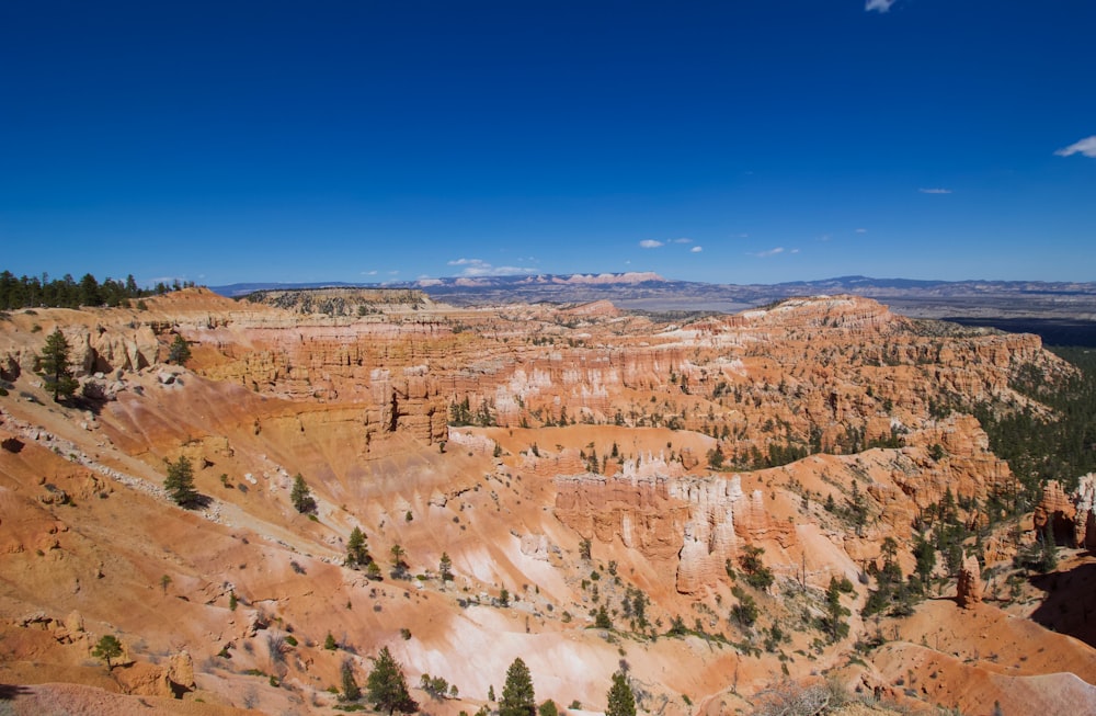
M 7 2 L 0 269 L 1096 280 L 1096 2 Z

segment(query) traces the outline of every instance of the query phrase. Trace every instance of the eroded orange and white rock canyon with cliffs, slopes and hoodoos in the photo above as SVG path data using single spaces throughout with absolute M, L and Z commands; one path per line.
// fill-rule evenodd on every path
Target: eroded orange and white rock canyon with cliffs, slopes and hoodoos
M 35 373 L 55 329 L 60 404 Z M 1017 476 L 968 409 L 1047 412 L 1016 378 L 1072 370 L 855 296 L 682 323 L 358 289 L 11 311 L 0 713 L 336 713 L 383 647 L 435 716 L 492 708 L 517 657 L 572 713 L 620 669 L 665 716 L 822 686 L 833 713 L 1096 711 L 1092 496 L 998 520 Z M 163 487 L 183 457 L 197 509 Z M 861 616 L 946 514 L 960 561 Z M 1014 568 L 1048 524 L 1055 569 Z M 355 527 L 379 570 L 345 564 Z

